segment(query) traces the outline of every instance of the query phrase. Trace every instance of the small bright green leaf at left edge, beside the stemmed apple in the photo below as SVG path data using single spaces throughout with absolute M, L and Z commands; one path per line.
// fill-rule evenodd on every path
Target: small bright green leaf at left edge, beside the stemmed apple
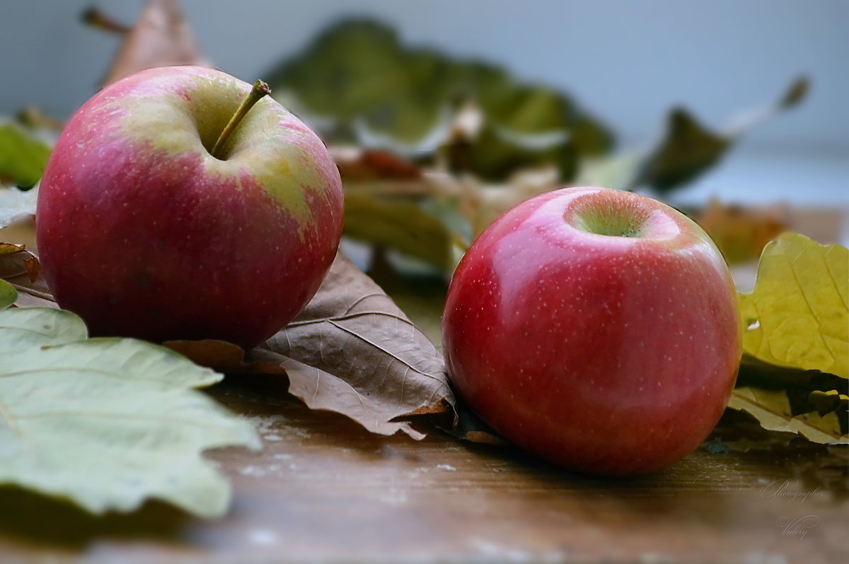
M 49 156 L 46 142 L 12 121 L 0 121 L 0 184 L 34 185 Z

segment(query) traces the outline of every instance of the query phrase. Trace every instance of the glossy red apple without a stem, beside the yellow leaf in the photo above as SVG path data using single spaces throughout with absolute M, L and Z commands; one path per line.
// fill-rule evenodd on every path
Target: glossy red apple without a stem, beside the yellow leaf
M 498 433 L 580 472 L 653 472 L 722 415 L 740 358 L 737 297 L 683 214 L 574 187 L 510 209 L 448 289 L 455 389 Z

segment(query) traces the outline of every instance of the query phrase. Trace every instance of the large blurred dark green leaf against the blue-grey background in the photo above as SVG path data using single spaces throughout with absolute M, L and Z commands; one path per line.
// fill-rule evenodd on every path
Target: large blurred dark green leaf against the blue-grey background
M 610 131 L 562 92 L 518 81 L 493 64 L 402 45 L 391 28 L 370 20 L 330 27 L 267 75 L 281 102 L 330 122 L 323 133 L 331 141 L 351 142 L 355 124 L 363 123 L 390 141 L 420 142 L 439 131 L 447 109 L 470 98 L 498 129 L 558 132 L 568 150 L 587 154 L 612 144 Z M 525 160 L 511 155 L 517 159 Z

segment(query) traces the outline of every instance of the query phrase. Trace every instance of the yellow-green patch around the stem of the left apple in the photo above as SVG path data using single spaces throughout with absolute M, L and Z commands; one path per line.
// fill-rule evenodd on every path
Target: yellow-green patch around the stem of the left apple
M 278 102 L 264 98 L 256 103 L 224 147 L 224 158 L 210 154 L 248 92 L 250 85 L 217 71 L 187 74 L 179 81 L 164 75 L 131 96 L 115 97 L 102 111 L 121 114 L 114 135 L 138 142 L 140 151 L 200 155 L 209 174 L 231 177 L 237 184 L 250 166 L 250 176 L 295 221 L 312 225 L 316 218 L 301 185 L 327 198 L 327 182 L 310 158 L 317 138 Z M 299 237 L 306 237 L 303 229 Z

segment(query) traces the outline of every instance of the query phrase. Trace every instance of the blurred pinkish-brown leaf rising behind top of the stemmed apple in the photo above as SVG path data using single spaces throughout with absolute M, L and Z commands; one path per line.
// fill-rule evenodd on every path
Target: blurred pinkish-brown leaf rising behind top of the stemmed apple
M 139 70 L 171 64 L 210 66 L 177 0 L 149 0 L 115 56 L 104 86 Z

